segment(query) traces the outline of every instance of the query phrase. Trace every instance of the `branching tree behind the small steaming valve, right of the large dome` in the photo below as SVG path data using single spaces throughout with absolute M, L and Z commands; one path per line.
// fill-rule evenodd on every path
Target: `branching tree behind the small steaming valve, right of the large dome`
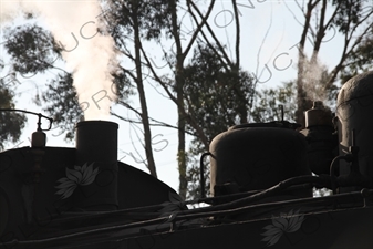
M 373 15 L 373 10 L 371 7 L 364 4 L 364 2 L 365 1 L 361 0 L 308 0 L 307 7 L 300 6 L 297 2 L 304 18 L 303 23 L 298 21 L 296 14 L 291 11 L 298 23 L 303 27 L 301 39 L 298 44 L 298 110 L 296 113 L 297 122 L 300 123 L 302 126 L 304 126 L 303 112 L 310 107 L 307 104 L 307 100 L 309 100 L 309 96 L 304 89 L 304 85 L 319 84 L 317 79 L 308 79 L 305 76 L 305 73 L 310 68 L 314 69 L 319 66 L 318 58 L 323 39 L 329 30 L 336 30 L 336 32 L 339 32 L 339 34 L 343 37 L 343 50 L 340 54 L 340 61 L 331 70 L 329 79 L 327 82 L 324 82 L 323 85 L 325 91 L 332 87 L 335 80 L 338 79 L 339 73 L 344 68 L 346 59 L 351 56 L 356 48 L 359 48 L 361 41 L 372 29 L 371 18 Z M 329 11 L 331 11 L 331 14 L 328 17 Z M 314 24 L 312 24 L 312 19 L 314 20 Z M 311 48 L 312 53 L 310 59 L 308 59 L 305 53 L 305 41 L 309 33 L 311 33 L 311 38 L 313 40 Z M 365 60 L 365 63 L 370 63 L 367 59 Z

